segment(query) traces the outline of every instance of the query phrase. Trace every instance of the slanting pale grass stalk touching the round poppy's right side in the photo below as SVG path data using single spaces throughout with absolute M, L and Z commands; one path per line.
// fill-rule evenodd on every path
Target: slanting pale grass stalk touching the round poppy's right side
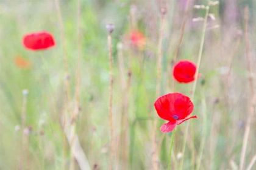
M 197 63 L 196 63 L 196 73 L 195 73 L 195 81 L 193 83 L 193 89 L 192 89 L 192 95 L 191 95 L 191 100 L 194 100 L 194 94 L 196 92 L 196 85 L 197 85 L 197 81 L 198 81 L 198 75 L 199 75 L 199 69 L 200 69 L 200 64 L 201 64 L 201 60 L 202 60 L 202 52 L 204 49 L 204 40 L 205 40 L 205 32 L 207 29 L 207 20 L 208 20 L 208 14 L 209 14 L 209 9 L 210 7 L 206 6 L 205 7 L 205 16 L 204 16 L 204 25 L 202 28 L 202 35 L 201 35 L 201 42 L 200 42 L 200 47 L 199 47 L 199 53 L 198 53 L 198 58 L 197 58 Z M 182 154 L 183 154 L 183 158 L 182 161 L 180 163 L 180 169 L 183 168 L 183 161 L 185 158 L 185 149 L 186 149 L 186 143 L 187 143 L 187 138 L 188 138 L 188 127 L 190 126 L 190 121 L 188 121 L 186 129 L 185 129 L 185 135 L 183 138 L 183 144 L 182 144 Z

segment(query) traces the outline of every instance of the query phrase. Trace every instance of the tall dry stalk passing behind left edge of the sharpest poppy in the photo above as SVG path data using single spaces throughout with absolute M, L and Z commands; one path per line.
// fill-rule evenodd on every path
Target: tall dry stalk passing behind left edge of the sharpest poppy
M 157 51 L 157 84 L 155 89 L 156 97 L 159 97 L 161 90 L 162 80 L 162 50 L 163 50 L 163 24 L 165 21 L 166 9 L 162 7 L 160 18 L 160 29 L 158 39 L 158 51 Z M 153 132 L 152 132 L 152 169 L 159 169 L 158 151 L 157 151 L 157 119 L 154 118 Z

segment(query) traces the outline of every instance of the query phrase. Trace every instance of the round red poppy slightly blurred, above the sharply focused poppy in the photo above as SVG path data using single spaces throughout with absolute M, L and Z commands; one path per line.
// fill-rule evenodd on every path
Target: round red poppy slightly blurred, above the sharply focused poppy
M 173 76 L 179 83 L 190 83 L 194 81 L 196 64 L 191 61 L 179 61 L 173 69 Z

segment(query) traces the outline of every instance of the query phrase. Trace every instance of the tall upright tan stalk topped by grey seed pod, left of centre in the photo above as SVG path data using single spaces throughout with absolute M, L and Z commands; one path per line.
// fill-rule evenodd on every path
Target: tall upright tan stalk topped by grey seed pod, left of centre
M 110 127 L 110 160 L 108 169 L 113 169 L 113 159 L 115 154 L 114 144 L 114 128 L 113 128 L 113 52 L 112 52 L 112 32 L 114 30 L 113 24 L 107 25 L 108 30 L 108 60 L 109 60 L 109 100 L 108 100 L 108 116 L 109 116 L 109 127 Z

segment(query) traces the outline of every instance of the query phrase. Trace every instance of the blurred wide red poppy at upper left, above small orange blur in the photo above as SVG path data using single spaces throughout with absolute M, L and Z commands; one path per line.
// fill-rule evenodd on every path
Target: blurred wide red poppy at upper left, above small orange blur
M 30 50 L 44 50 L 55 45 L 54 37 L 48 32 L 29 33 L 23 37 L 23 44 Z

